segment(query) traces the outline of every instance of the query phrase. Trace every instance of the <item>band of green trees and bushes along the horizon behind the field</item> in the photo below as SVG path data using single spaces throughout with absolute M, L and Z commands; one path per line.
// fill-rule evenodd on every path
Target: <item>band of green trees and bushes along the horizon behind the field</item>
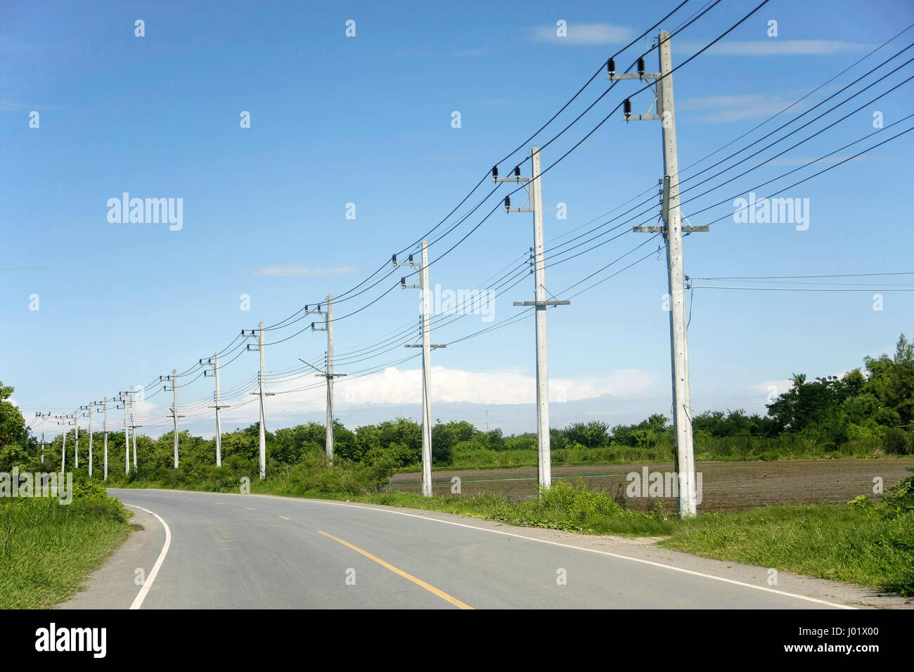
M 865 367 L 842 378 L 807 380 L 793 376 L 793 386 L 768 405 L 768 413 L 706 411 L 693 419 L 699 461 L 875 458 L 914 454 L 914 344 L 902 335 L 894 357 L 866 357 Z M 16 413 L 18 411 L 16 410 Z M 21 415 L 20 415 L 21 419 Z M 390 475 L 420 468 L 421 427 L 398 418 L 350 430 L 336 421 L 335 464 L 324 464 L 324 425 L 308 422 L 266 432 L 268 479 L 284 486 L 350 494 L 377 492 Z M 139 469 L 124 474 L 124 437 L 109 433 L 109 485 L 134 481 L 165 487 L 218 489 L 237 485 L 241 476 L 258 474 L 259 427 L 255 423 L 222 435 L 223 464 L 216 462 L 216 441 L 189 432 L 178 435 L 181 466 L 174 468 L 174 433 L 158 439 L 137 437 Z M 59 468 L 61 437 L 48 444 L 43 468 Z M 76 474 L 88 477 L 86 432 Z M 101 432 L 94 443 L 101 446 Z M 552 464 L 626 464 L 672 462 L 674 433 L 659 414 L 631 425 L 576 423 L 551 431 Z M 75 444 L 70 432 L 68 451 Z M 467 421 L 437 422 L 431 432 L 436 469 L 484 469 L 537 464 L 535 434 L 505 436 L 483 432 Z M 35 437 L 19 445 L 0 434 L 0 471 L 12 464 L 37 464 Z M 101 479 L 101 450 L 93 454 L 93 478 Z M 69 463 L 72 462 L 70 456 Z M 291 484 L 291 485 L 290 485 Z

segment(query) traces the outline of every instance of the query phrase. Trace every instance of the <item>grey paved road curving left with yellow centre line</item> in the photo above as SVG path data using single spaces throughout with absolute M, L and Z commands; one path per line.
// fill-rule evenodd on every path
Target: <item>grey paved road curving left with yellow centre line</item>
M 128 542 L 135 546 L 103 568 L 102 583 L 70 606 L 117 600 L 143 609 L 835 606 L 772 591 L 763 579 L 747 585 L 726 578 L 727 563 L 717 574 L 677 569 L 670 561 L 626 555 L 625 548 L 574 548 L 472 518 L 284 497 L 109 492 L 138 511 L 146 529 L 134 537 L 143 540 Z M 679 554 L 668 553 L 675 562 Z M 134 568 L 143 568 L 144 596 Z M 97 603 L 100 593 L 107 603 Z

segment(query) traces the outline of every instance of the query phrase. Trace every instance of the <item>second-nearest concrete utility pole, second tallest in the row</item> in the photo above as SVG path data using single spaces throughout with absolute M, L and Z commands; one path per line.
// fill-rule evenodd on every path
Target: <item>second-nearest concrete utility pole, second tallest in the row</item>
M 549 448 L 549 364 L 546 329 L 546 309 L 550 305 L 568 305 L 570 301 L 546 298 L 546 243 L 543 236 L 543 181 L 540 178 L 539 147 L 532 150 L 533 176 L 521 177 L 520 166 L 514 176 L 499 177 L 498 166 L 492 168 L 493 182 L 528 184 L 529 208 L 512 208 L 511 197 L 505 197 L 505 212 L 533 213 L 533 272 L 536 283 L 535 301 L 515 301 L 515 305 L 533 305 L 537 311 L 537 475 L 540 488 L 552 486 L 552 457 Z

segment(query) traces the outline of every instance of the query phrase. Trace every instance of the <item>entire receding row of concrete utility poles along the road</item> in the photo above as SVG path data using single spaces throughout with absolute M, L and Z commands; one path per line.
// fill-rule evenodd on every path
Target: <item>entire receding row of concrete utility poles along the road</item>
M 679 177 L 678 161 L 676 153 L 676 131 L 675 131 L 675 108 L 673 97 L 673 63 L 671 58 L 670 35 L 666 31 L 661 31 L 658 36 L 657 50 L 660 62 L 659 72 L 645 72 L 643 59 L 638 59 L 637 73 L 617 73 L 613 59 L 607 61 L 607 79 L 608 80 L 639 80 L 647 81 L 650 88 L 655 94 L 656 112 L 646 114 L 632 114 L 632 105 L 629 99 L 623 104 L 623 113 L 625 121 L 660 121 L 662 128 L 662 144 L 664 156 L 664 179 L 663 179 L 663 199 L 662 199 L 662 219 L 663 225 L 656 227 L 634 227 L 635 231 L 662 233 L 666 242 L 666 262 L 667 274 L 670 293 L 670 349 L 671 349 L 671 369 L 673 382 L 673 416 L 675 429 L 675 448 L 676 448 L 676 468 L 679 476 L 679 501 L 678 508 L 680 516 L 696 515 L 696 483 L 695 483 L 695 459 L 692 437 L 691 421 L 691 401 L 689 390 L 689 371 L 688 371 L 688 343 L 686 336 L 686 318 L 685 318 L 685 272 L 683 264 L 683 232 L 691 233 L 695 231 L 707 230 L 707 227 L 683 227 L 682 214 L 679 208 Z M 654 104 L 651 106 L 654 107 Z M 569 301 L 562 301 L 555 298 L 547 298 L 548 290 L 546 286 L 546 246 L 543 231 L 543 196 L 542 196 L 542 171 L 539 147 L 534 146 L 529 156 L 531 159 L 532 173 L 530 176 L 521 176 L 520 166 L 515 166 L 513 175 L 498 176 L 498 166 L 492 168 L 492 179 L 494 182 L 512 182 L 520 185 L 517 190 L 523 188 L 527 192 L 527 203 L 520 208 L 511 207 L 510 195 L 505 197 L 505 212 L 529 212 L 533 214 L 533 247 L 531 248 L 531 273 L 534 275 L 534 300 L 515 302 L 515 306 L 533 307 L 535 309 L 535 329 L 536 329 L 536 362 L 537 362 L 537 482 L 540 488 L 548 488 L 552 483 L 551 478 L 551 454 L 549 445 L 549 380 L 548 380 L 548 347 L 547 347 L 547 308 L 556 305 L 568 305 Z M 431 350 L 443 345 L 431 343 L 430 327 L 430 283 L 429 283 L 429 251 L 428 242 L 422 240 L 421 243 L 421 261 L 414 261 L 413 255 L 409 255 L 409 261 L 398 261 L 397 255 L 391 258 L 394 266 L 406 266 L 415 269 L 420 276 L 419 284 L 407 284 L 406 276 L 401 278 L 400 285 L 403 289 L 419 289 L 422 293 L 422 315 L 420 321 L 421 327 L 421 344 L 408 344 L 406 347 L 422 348 L 422 494 L 431 496 Z M 551 294 L 549 294 L 551 295 Z M 325 306 L 325 309 L 324 309 Z M 336 373 L 334 370 L 334 318 L 333 318 L 333 296 L 327 297 L 326 304 L 318 304 L 315 310 L 309 306 L 304 307 L 305 315 L 321 315 L 323 317 L 322 326 L 317 326 L 317 322 L 311 324 L 313 331 L 325 331 L 327 334 L 327 351 L 325 367 L 318 368 L 310 362 L 301 359 L 309 367 L 317 371 L 315 374 L 326 381 L 326 457 L 332 460 L 334 456 L 334 379 L 345 376 L 344 373 Z M 247 338 L 257 338 L 257 345 L 247 345 L 250 351 L 260 353 L 260 377 L 259 389 L 251 394 L 260 397 L 260 478 L 266 475 L 266 436 L 265 436 L 265 411 L 264 398 L 271 396 L 272 393 L 265 388 L 264 372 L 264 343 L 263 343 L 263 323 L 260 323 L 260 329 L 255 335 L 253 329 L 242 330 L 241 336 Z M 199 365 L 207 367 L 204 375 L 210 373 L 216 379 L 216 403 L 213 408 L 216 410 L 216 464 L 221 465 L 221 421 L 220 411 L 228 406 L 223 405 L 219 400 L 219 365 L 218 352 L 215 357 L 206 361 L 199 360 Z M 171 376 L 160 377 L 160 381 L 165 381 L 164 389 L 170 387 L 174 393 L 173 405 L 170 410 L 171 416 L 175 422 L 175 469 L 178 467 L 178 419 L 184 417 L 177 411 L 177 371 L 172 371 Z M 129 434 L 133 429 L 133 468 L 136 468 L 136 428 L 140 425 L 133 421 L 133 388 L 128 393 L 121 393 L 116 399 L 118 404 L 123 404 L 124 409 L 124 432 L 127 439 L 126 444 L 126 470 L 130 473 L 130 447 Z M 80 411 L 88 410 L 91 419 L 92 402 L 88 407 L 80 407 Z M 107 477 L 107 399 L 105 404 L 105 475 Z M 128 404 L 130 406 L 131 419 L 128 420 Z M 118 406 L 121 408 L 121 406 Z M 79 413 L 80 411 L 77 411 Z M 79 424 L 76 420 L 76 414 L 67 416 L 56 416 L 58 421 L 68 424 L 69 418 L 74 419 L 76 424 L 76 441 L 77 441 L 77 466 L 79 466 Z M 43 443 L 43 436 L 42 436 Z M 61 470 L 66 460 L 66 432 L 64 432 L 64 454 L 61 459 Z M 91 429 L 90 429 L 90 469 L 91 469 Z

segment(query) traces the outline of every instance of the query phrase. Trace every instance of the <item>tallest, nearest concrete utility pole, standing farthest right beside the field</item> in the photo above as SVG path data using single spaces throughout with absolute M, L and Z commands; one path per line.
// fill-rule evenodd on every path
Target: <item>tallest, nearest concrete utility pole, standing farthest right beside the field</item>
M 663 232 L 666 239 L 666 267 L 670 290 L 670 346 L 673 369 L 673 424 L 676 436 L 676 470 L 679 475 L 678 508 L 680 517 L 697 513 L 695 480 L 695 447 L 692 438 L 691 392 L 688 374 L 688 341 L 685 331 L 685 271 L 683 265 L 683 231 L 707 231 L 705 227 L 683 227 L 679 208 L 679 164 L 676 156 L 676 121 L 673 103 L 673 59 L 670 34 L 662 30 L 658 42 L 660 72 L 644 72 L 643 59 L 638 60 L 638 74 L 616 74 L 612 59 L 607 62 L 609 80 L 654 80 L 656 114 L 632 114 L 632 103 L 625 100 L 626 121 L 661 121 L 664 144 L 664 226 L 634 227 L 639 232 Z

